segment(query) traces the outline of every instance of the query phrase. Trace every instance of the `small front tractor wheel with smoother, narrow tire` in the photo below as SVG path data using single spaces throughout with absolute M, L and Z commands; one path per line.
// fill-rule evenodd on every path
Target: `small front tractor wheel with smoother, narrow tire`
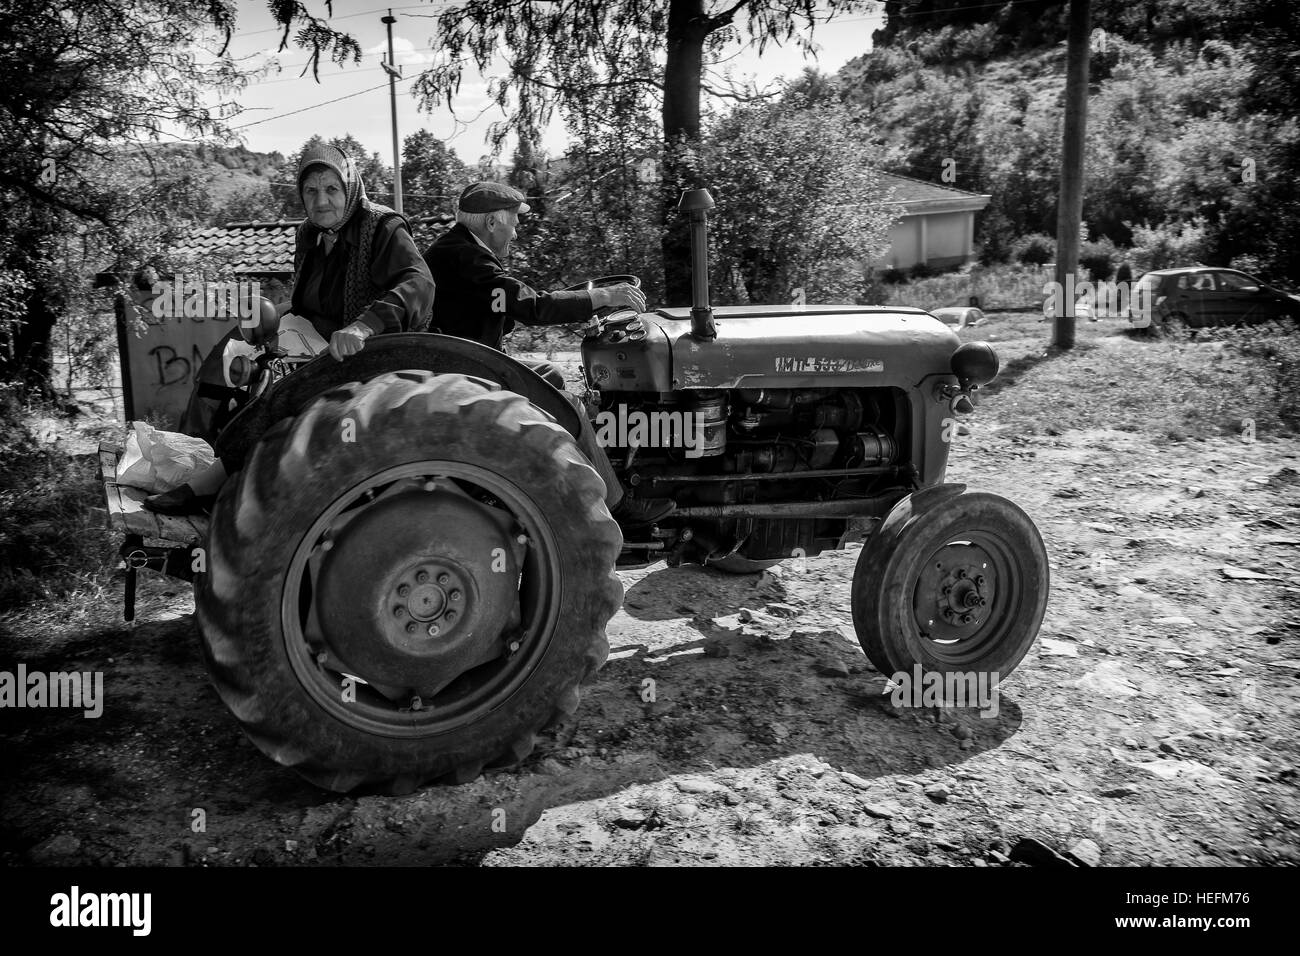
M 906 499 L 905 499 L 906 502 Z M 884 675 L 983 671 L 1009 675 L 1048 601 L 1048 554 L 1019 507 L 982 492 L 916 502 L 862 546 L 853 626 Z

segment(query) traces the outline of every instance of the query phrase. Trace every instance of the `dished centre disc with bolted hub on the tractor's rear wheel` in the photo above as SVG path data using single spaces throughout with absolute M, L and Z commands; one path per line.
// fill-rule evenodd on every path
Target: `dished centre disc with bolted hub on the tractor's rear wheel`
M 312 555 L 312 636 L 382 693 L 433 697 L 506 652 L 525 550 L 512 525 L 450 481 L 339 515 Z

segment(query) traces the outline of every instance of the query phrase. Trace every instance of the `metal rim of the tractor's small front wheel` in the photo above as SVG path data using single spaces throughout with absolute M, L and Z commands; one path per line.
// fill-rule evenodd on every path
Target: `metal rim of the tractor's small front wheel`
M 1015 627 L 1024 572 L 1008 544 L 987 531 L 962 532 L 933 549 L 913 592 L 913 623 L 927 653 L 962 666 Z

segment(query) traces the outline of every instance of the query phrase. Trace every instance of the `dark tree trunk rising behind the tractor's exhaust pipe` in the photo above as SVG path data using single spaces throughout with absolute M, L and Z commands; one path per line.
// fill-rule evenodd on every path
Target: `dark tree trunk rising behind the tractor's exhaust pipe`
M 698 182 L 689 156 L 699 143 L 699 82 L 705 38 L 711 23 L 703 0 L 671 0 L 668 7 L 668 61 L 663 85 L 663 284 L 664 303 L 690 304 L 690 229 L 677 213 L 682 189 Z

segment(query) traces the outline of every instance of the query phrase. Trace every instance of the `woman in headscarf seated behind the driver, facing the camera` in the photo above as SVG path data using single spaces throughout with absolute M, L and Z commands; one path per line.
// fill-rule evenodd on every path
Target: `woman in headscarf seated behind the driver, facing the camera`
M 298 195 L 307 221 L 294 248 L 294 295 L 281 313 L 307 319 L 338 360 L 361 351 L 370 336 L 422 332 L 433 307 L 429 267 L 406 219 L 365 196 L 351 157 L 335 146 L 303 150 Z M 217 356 L 222 346 L 213 350 Z M 198 392 L 191 410 L 196 401 Z M 187 484 L 150 496 L 144 507 L 172 515 L 207 510 L 229 464 L 218 460 Z

